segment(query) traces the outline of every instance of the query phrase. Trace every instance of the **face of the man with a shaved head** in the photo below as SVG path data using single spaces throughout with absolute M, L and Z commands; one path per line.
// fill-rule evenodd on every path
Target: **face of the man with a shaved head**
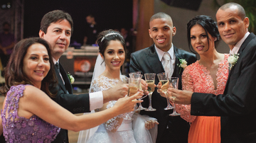
M 232 50 L 247 33 L 249 26 L 248 18 L 240 18 L 238 8 L 232 6 L 225 10 L 219 9 L 216 13 L 220 37 Z

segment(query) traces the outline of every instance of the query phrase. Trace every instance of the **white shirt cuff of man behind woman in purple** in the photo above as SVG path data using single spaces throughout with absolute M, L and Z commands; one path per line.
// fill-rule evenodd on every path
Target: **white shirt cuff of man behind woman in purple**
M 90 93 L 89 98 L 90 98 L 90 110 L 102 108 L 102 106 L 103 106 L 102 91 Z

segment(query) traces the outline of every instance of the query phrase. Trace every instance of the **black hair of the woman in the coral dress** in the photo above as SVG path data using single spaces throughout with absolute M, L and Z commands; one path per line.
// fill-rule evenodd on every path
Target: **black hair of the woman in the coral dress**
M 213 18 L 210 18 L 210 16 L 196 16 L 191 21 L 188 22 L 187 24 L 187 38 L 188 38 L 188 47 L 189 50 L 193 53 L 196 54 L 196 51 L 193 50 L 193 47 L 191 45 L 191 28 L 193 28 L 194 25 L 201 25 L 203 29 L 206 31 L 206 36 L 208 40 L 208 45 L 209 45 L 209 36 L 208 33 L 215 38 L 214 44 L 216 45 L 218 41 L 220 40 L 220 33 L 218 32 L 218 27 L 213 21 Z M 208 46 L 209 49 L 209 46 Z M 208 50 L 206 50 L 208 51 Z

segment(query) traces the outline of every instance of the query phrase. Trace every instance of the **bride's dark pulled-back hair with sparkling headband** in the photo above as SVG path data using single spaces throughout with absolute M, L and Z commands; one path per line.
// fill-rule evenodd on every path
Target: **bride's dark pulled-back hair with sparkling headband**
M 125 41 L 122 35 L 115 30 L 104 30 L 97 36 L 97 44 L 99 45 L 100 53 L 104 57 L 104 52 L 110 44 L 110 40 L 119 40 L 126 51 Z

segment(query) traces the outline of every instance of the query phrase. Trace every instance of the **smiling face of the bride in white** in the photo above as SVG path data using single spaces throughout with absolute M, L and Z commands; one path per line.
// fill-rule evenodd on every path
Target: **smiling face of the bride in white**
M 100 54 L 103 58 L 103 55 Z M 106 69 L 120 70 L 122 64 L 124 64 L 125 52 L 122 43 L 119 40 L 110 40 L 109 45 L 104 52 L 104 59 Z

